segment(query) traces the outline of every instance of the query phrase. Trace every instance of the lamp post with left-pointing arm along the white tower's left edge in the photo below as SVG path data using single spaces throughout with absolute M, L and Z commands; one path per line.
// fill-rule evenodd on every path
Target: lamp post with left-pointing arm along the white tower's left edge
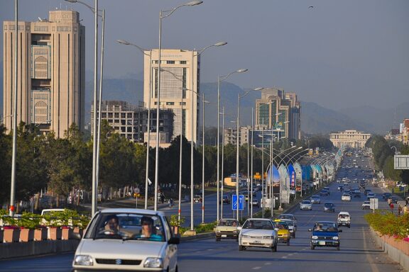
M 148 209 L 148 185 L 149 185 L 149 149 L 151 147 L 151 96 L 152 96 L 152 50 L 149 54 L 142 47 L 135 45 L 127 40 L 116 40 L 121 45 L 132 45 L 136 47 L 143 55 L 149 56 L 149 97 L 148 97 L 148 123 L 146 125 L 146 132 L 148 133 L 148 142 L 146 145 L 146 173 L 145 173 L 145 210 Z M 158 121 L 158 120 L 157 120 Z M 156 197 L 156 196 L 155 196 Z

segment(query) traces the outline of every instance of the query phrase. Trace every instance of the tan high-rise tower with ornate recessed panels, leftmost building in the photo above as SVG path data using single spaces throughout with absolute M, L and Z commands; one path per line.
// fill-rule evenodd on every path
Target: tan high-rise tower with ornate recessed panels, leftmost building
M 13 126 L 14 21 L 4 21 L 4 124 Z M 56 137 L 72 123 L 84 129 L 85 28 L 77 11 L 49 11 L 48 19 L 18 22 L 17 122 Z

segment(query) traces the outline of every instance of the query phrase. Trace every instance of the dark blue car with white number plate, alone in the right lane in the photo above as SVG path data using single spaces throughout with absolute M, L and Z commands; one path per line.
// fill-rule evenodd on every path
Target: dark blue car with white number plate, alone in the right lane
M 339 250 L 339 232 L 342 229 L 338 229 L 336 222 L 319 221 L 315 222 L 312 229 L 308 229 L 311 233 L 311 249 L 315 249 L 316 246 L 329 246 L 336 247 Z

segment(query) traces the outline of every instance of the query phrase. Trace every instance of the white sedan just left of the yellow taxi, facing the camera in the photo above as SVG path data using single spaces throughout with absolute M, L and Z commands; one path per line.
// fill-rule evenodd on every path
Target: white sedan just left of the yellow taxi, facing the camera
M 250 218 L 244 222 L 239 234 L 239 251 L 247 247 L 264 247 L 277 251 L 277 232 L 273 221 L 267 218 Z

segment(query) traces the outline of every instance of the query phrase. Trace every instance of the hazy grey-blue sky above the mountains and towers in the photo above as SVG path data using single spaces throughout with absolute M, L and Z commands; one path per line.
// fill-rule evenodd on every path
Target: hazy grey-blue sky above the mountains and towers
M 106 10 L 105 75 L 142 72 L 141 53 L 116 40 L 157 48 L 160 9 L 183 3 L 99 0 Z M 86 69 L 92 70 L 94 19 L 85 6 L 20 0 L 19 20 L 48 18 L 49 10 L 60 7 L 80 12 L 87 31 Z M 13 20 L 13 8 L 13 0 L 0 0 L 0 21 Z M 163 48 L 192 50 L 228 42 L 203 53 L 202 82 L 247 68 L 248 73 L 229 81 L 243 88 L 278 86 L 327 108 L 391 108 L 409 101 L 408 0 L 204 0 L 180 8 L 162 26 Z

